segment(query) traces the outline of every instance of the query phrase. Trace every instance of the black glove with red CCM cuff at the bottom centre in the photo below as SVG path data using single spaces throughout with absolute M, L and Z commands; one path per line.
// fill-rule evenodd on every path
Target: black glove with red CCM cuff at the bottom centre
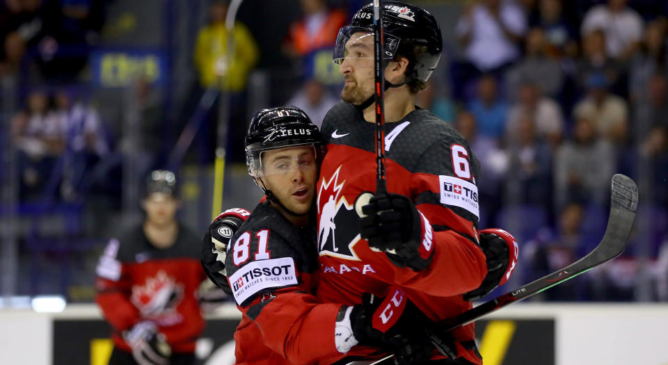
M 362 300 L 360 305 L 342 307 L 337 318 L 336 341 L 340 352 L 347 352 L 357 344 L 374 346 L 393 352 L 396 364 L 414 364 L 434 354 L 424 326 L 417 325 L 426 317 L 406 294 L 392 289 L 385 298 L 365 293 Z M 342 346 L 341 341 L 345 342 Z

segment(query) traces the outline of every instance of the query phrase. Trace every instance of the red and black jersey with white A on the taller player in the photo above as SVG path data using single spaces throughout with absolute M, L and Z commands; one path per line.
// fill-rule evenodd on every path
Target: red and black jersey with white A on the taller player
M 355 305 L 362 293 L 385 295 L 390 285 L 397 285 L 434 321 L 470 309 L 462 293 L 477 288 L 487 269 L 477 240 L 479 163 L 466 140 L 419 108 L 385 124 L 388 191 L 411 197 L 434 230 L 434 259 L 429 268 L 415 272 L 395 266 L 360 239 L 353 204 L 360 193 L 376 187 L 374 124 L 341 102 L 328 112 L 321 131 L 328 152 L 317 185 L 319 302 Z M 473 325 L 454 330 L 454 336 L 459 355 L 482 364 Z M 376 354 L 357 346 L 347 355 L 322 358 L 320 364 Z

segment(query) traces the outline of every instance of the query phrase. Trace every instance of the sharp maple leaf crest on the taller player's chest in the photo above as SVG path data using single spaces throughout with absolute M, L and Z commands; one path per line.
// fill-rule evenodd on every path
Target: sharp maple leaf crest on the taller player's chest
M 353 246 L 360 235 L 357 229 L 350 229 L 357 227 L 358 218 L 353 205 L 341 194 L 346 181 L 339 181 L 340 170 L 341 166 L 331 177 L 323 177 L 318 189 L 318 249 L 320 255 L 359 261 Z

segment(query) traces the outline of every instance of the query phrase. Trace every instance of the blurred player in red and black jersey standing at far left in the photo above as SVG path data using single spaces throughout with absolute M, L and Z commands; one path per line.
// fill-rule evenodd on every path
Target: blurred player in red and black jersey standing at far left
M 204 328 L 194 293 L 209 281 L 200 238 L 175 218 L 173 172 L 152 171 L 145 189 L 145 218 L 111 238 L 97 265 L 95 301 L 114 330 L 109 364 L 194 364 Z

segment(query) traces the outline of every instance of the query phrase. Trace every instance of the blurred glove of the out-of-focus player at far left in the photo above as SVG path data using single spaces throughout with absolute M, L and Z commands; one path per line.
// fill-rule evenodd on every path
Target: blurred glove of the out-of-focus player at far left
M 139 365 L 169 365 L 172 349 L 165 335 L 158 332 L 155 323 L 137 323 L 123 333 L 125 342 L 132 348 L 132 357 Z

